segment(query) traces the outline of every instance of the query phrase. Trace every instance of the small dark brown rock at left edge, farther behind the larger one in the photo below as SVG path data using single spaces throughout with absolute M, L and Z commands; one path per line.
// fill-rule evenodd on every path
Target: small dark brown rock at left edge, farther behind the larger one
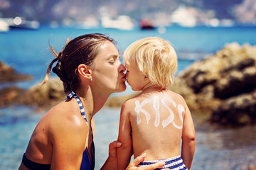
M 31 80 L 32 77 L 25 74 L 18 74 L 14 68 L 7 66 L 0 61 L 0 84 Z

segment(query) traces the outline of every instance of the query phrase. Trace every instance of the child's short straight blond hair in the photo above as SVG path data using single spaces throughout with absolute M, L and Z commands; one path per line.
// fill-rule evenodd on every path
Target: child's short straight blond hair
M 174 84 L 177 55 L 174 47 L 162 38 L 149 37 L 133 42 L 124 51 L 124 63 L 137 64 L 152 84 L 163 89 Z

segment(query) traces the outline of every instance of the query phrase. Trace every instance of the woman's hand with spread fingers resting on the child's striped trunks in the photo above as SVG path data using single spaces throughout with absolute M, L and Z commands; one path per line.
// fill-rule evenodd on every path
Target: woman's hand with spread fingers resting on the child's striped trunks
M 136 159 L 134 159 L 131 163 L 129 163 L 126 170 L 153 170 L 153 169 L 160 168 L 161 166 L 164 166 L 164 164 L 165 164 L 164 162 L 158 162 L 156 164 L 137 167 L 140 162 L 144 161 L 145 157 L 146 157 L 146 154 L 142 154 L 139 157 L 137 157 Z M 167 170 L 167 169 L 163 169 L 163 170 Z

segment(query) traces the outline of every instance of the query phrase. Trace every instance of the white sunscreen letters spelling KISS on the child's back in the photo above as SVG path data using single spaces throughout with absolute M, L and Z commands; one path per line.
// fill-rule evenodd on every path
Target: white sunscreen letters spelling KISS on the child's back
M 146 98 L 144 101 L 142 101 L 142 103 L 139 103 L 139 100 L 135 101 L 134 111 L 137 113 L 137 125 L 139 125 L 139 123 L 142 122 L 142 120 L 140 118 L 140 112 L 144 113 L 144 115 L 146 116 L 146 123 L 149 124 L 149 120 L 151 118 L 150 114 L 147 111 L 145 111 L 142 107 L 145 106 L 146 103 L 150 103 L 150 102 L 151 102 L 150 98 Z M 162 121 L 163 128 L 165 128 L 167 125 L 172 123 L 172 125 L 174 125 L 175 128 L 182 129 L 182 124 L 180 126 L 178 126 L 174 122 L 174 112 L 171 110 L 171 108 L 169 108 L 169 106 L 166 103 L 171 103 L 174 106 L 174 108 L 178 109 L 178 117 L 181 120 L 181 123 L 183 123 L 182 113 L 185 114 L 185 108 L 181 104 L 179 104 L 177 107 L 176 103 L 171 98 L 162 98 L 161 103 L 164 105 L 164 107 L 170 113 L 169 117 Z M 160 124 L 160 112 L 159 112 L 160 109 L 159 109 L 159 97 L 158 96 L 154 96 L 154 98 L 153 98 L 153 108 L 156 112 L 156 119 L 154 121 L 154 126 L 158 127 Z

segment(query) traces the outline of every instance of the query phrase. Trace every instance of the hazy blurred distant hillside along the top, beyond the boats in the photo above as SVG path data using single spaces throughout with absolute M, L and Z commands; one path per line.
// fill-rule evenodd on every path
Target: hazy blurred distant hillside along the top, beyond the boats
M 43 23 L 50 21 L 82 21 L 102 13 L 114 17 L 129 15 L 134 20 L 169 16 L 183 4 L 198 13 L 208 13 L 218 19 L 232 19 L 235 23 L 256 24 L 255 0 L 3 0 L 0 17 L 23 16 Z M 209 14 L 210 11 L 210 14 Z

